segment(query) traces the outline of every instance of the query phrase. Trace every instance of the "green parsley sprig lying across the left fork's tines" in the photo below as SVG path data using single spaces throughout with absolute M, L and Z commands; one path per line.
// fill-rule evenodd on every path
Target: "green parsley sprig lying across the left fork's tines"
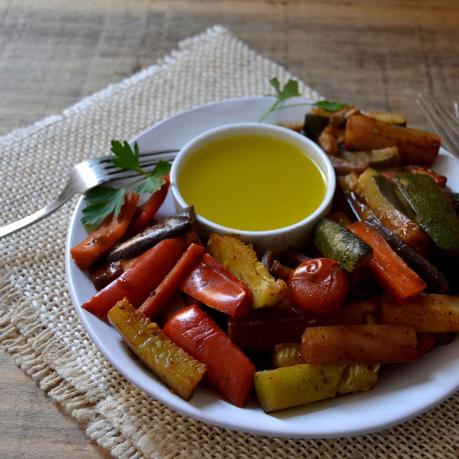
M 158 161 L 151 172 L 145 172 L 140 167 L 139 146 L 132 148 L 128 142 L 112 140 L 112 163 L 122 170 L 132 170 L 139 174 L 139 179 L 130 185 L 137 193 L 156 193 L 165 183 L 164 176 L 169 173 L 171 165 L 167 161 Z M 118 217 L 124 205 L 127 188 L 111 188 L 97 186 L 85 194 L 85 208 L 81 223 L 88 229 L 94 230 L 113 214 Z

